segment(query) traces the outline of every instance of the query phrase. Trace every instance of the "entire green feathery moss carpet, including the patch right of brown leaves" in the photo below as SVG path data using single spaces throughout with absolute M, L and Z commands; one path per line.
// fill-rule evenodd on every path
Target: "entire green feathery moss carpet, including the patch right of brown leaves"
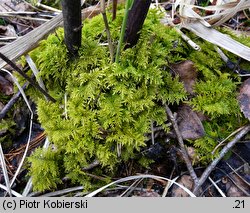
M 115 21 L 109 17 L 114 43 L 119 39 L 122 14 L 119 11 Z M 101 169 L 91 172 L 111 175 L 120 162 L 136 158 L 147 146 L 151 122 L 168 131 L 163 103 L 185 101 L 211 117 L 205 125 L 207 135 L 192 142 L 204 162 L 211 160 L 206 152 L 211 153 L 218 139 L 244 122 L 236 100 L 239 79 L 221 70 L 223 62 L 213 46 L 197 40 L 205 52 L 196 52 L 159 19 L 157 11 L 149 11 L 138 44 L 123 50 L 119 63 L 110 63 L 108 47 L 101 45 L 107 38 L 100 15 L 84 22 L 78 59 L 69 59 L 63 29 L 31 53 L 48 92 L 57 100 L 47 102 L 34 89 L 27 91 L 53 144 L 48 150 L 37 149 L 29 158 L 34 190 L 56 188 L 65 176 L 85 189 L 95 187 L 84 167 L 97 159 Z M 193 60 L 199 72 L 192 99 L 168 66 L 186 59 Z M 213 142 L 205 144 L 208 138 Z

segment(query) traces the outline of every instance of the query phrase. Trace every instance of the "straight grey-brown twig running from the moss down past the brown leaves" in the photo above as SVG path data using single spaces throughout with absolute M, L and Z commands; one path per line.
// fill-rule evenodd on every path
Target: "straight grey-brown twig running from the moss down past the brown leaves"
M 187 169 L 188 169 L 188 171 L 190 173 L 190 176 L 194 181 L 194 186 L 196 187 L 199 180 L 198 180 L 197 175 L 196 175 L 196 173 L 194 171 L 192 163 L 191 163 L 191 161 L 190 161 L 190 159 L 188 157 L 187 150 L 185 148 L 185 145 L 184 145 L 184 142 L 183 142 L 179 127 L 178 127 L 178 125 L 176 123 L 176 120 L 174 118 L 174 115 L 173 115 L 172 111 L 170 110 L 170 108 L 168 107 L 167 104 L 165 104 L 165 109 L 166 109 L 166 112 L 167 112 L 167 115 L 168 115 L 169 119 L 171 120 L 171 122 L 173 124 L 173 128 L 174 128 L 174 131 L 176 133 L 176 137 L 177 137 L 179 146 L 181 148 L 182 157 L 183 157 L 183 159 L 184 159 L 184 161 L 186 163 L 186 166 L 187 166 Z

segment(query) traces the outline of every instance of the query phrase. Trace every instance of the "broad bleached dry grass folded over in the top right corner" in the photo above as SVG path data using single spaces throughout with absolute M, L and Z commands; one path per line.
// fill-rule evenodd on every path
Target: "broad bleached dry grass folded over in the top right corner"
M 250 7 L 249 0 L 240 0 L 230 2 L 228 4 L 199 7 L 194 5 L 193 0 L 178 0 L 175 3 L 175 8 L 179 7 L 178 13 L 181 17 L 181 27 L 186 28 L 202 39 L 209 41 L 217 46 L 220 46 L 235 55 L 250 61 L 250 48 L 235 41 L 228 35 L 220 33 L 211 28 L 211 26 L 220 26 L 221 24 L 233 18 L 235 14 Z M 202 10 L 215 11 L 213 15 L 202 17 L 195 12 L 197 8 Z

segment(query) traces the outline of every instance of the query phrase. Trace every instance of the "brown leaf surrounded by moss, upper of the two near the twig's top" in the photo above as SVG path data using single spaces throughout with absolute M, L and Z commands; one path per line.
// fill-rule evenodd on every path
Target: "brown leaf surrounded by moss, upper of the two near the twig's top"
M 189 94 L 193 94 L 193 87 L 197 78 L 197 71 L 194 63 L 190 60 L 186 60 L 172 64 L 170 67 L 179 75 L 180 81 L 183 82 L 186 91 Z

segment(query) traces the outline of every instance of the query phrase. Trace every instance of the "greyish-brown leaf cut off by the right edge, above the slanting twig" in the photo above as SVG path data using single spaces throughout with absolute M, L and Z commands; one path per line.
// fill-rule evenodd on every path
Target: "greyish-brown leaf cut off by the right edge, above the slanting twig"
M 244 116 L 250 120 L 250 78 L 243 82 L 238 100 L 241 111 Z

